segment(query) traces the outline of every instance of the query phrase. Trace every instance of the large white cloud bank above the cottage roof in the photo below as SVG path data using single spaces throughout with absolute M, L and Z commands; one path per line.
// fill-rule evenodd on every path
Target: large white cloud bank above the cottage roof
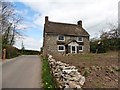
M 41 13 L 41 15 L 36 17 L 34 23 L 42 27 L 44 25 L 44 17 L 48 15 L 51 21 L 56 22 L 76 24 L 81 19 L 83 20 L 83 26 L 89 29 L 97 24 L 106 24 L 104 21 L 116 19 L 118 0 L 74 0 L 69 2 L 68 0 L 40 0 L 23 3 Z M 88 31 L 92 33 L 96 30 L 93 28 L 92 31 Z

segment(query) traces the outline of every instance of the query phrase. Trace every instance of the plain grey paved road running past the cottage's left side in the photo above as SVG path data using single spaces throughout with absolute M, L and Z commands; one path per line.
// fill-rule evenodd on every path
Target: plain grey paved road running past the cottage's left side
M 37 55 L 20 56 L 2 65 L 2 88 L 40 88 L 41 60 Z

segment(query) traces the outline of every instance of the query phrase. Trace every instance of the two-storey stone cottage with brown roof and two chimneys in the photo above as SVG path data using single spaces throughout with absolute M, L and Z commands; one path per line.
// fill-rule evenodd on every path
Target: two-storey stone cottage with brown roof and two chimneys
M 89 34 L 82 27 L 82 21 L 77 24 L 49 21 L 45 17 L 43 32 L 43 54 L 88 53 L 90 51 Z

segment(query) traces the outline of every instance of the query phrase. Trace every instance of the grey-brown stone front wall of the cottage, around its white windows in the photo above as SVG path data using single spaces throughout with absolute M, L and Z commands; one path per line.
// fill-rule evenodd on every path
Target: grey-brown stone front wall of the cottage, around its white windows
M 48 54 L 54 54 L 58 53 L 57 50 L 57 35 L 55 34 L 46 34 L 45 36 L 45 49 Z M 65 36 L 65 42 L 68 42 L 68 40 L 77 40 L 77 37 L 74 36 Z M 90 46 L 89 46 L 89 40 L 88 37 L 83 37 L 83 42 L 84 42 L 84 49 L 83 53 L 88 53 L 90 51 Z M 64 54 L 65 52 L 59 52 L 61 54 Z

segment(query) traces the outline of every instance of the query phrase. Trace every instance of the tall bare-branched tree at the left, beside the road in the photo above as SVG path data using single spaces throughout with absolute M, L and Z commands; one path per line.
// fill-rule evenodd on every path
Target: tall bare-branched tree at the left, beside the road
M 22 17 L 15 12 L 15 7 L 11 2 L 0 2 L 2 4 L 2 11 L 0 13 L 2 26 L 2 44 L 13 45 L 15 43 L 15 36 L 21 35 L 17 29 Z

